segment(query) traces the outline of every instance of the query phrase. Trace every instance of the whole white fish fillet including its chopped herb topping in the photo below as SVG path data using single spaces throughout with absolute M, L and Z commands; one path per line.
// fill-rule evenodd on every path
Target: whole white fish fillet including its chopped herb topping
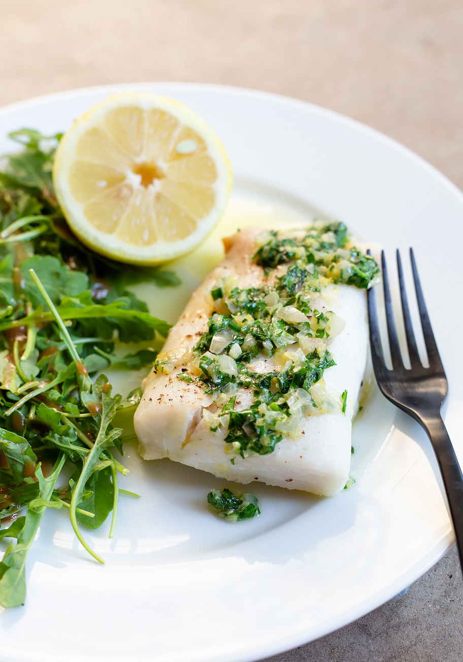
M 342 246 L 344 227 L 225 240 L 144 380 L 134 420 L 144 459 L 317 495 L 343 489 L 367 358 L 364 288 L 378 274 Z

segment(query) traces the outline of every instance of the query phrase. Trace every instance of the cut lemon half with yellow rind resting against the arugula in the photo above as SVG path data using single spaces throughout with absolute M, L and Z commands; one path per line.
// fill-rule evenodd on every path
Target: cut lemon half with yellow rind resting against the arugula
M 148 265 L 204 240 L 225 211 L 231 167 L 214 131 L 185 105 L 124 93 L 97 104 L 65 133 L 53 181 L 84 244 Z

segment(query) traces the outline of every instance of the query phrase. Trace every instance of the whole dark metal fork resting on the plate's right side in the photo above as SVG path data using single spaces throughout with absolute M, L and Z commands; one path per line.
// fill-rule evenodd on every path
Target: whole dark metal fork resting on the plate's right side
M 369 251 L 368 251 L 369 253 Z M 442 366 L 441 357 L 437 350 L 431 322 L 427 313 L 423 291 L 419 282 L 417 266 L 413 250 L 410 249 L 411 269 L 415 281 L 415 293 L 417 297 L 421 328 L 425 339 L 426 351 L 429 359 L 429 367 L 425 367 L 418 354 L 413 326 L 405 292 L 405 282 L 397 251 L 397 267 L 400 285 L 400 299 L 407 338 L 407 349 L 411 368 L 403 364 L 394 313 L 392 312 L 392 299 L 389 288 L 388 271 L 384 251 L 381 256 L 384 305 L 386 308 L 386 323 L 388 327 L 388 338 L 392 369 L 386 367 L 380 332 L 378 326 L 378 315 L 376 312 L 376 297 L 374 288 L 368 290 L 368 320 L 370 325 L 370 345 L 372 363 L 376 381 L 380 391 L 388 400 L 400 407 L 404 412 L 413 416 L 427 433 L 433 446 L 439 468 L 441 469 L 442 481 L 446 491 L 448 506 L 452 516 L 455 531 L 456 545 L 463 569 L 463 475 L 456 459 L 456 455 L 450 442 L 447 430 L 441 417 L 442 402 L 447 395 L 447 379 Z

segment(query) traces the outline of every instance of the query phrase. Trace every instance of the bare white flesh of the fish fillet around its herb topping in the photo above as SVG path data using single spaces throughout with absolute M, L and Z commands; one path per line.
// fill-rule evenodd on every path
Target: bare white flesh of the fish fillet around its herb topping
M 253 261 L 256 238 L 261 230 L 247 228 L 226 240 L 227 254 L 192 294 L 181 318 L 171 328 L 163 348 L 173 370 L 152 369 L 144 380 L 142 400 L 135 414 L 140 453 L 145 459 L 169 457 L 228 481 L 262 481 L 317 495 L 335 495 L 345 486 L 351 463 L 351 420 L 358 409 L 368 348 L 365 291 L 351 285 L 328 283 L 317 299 L 318 311 L 333 311 L 345 328 L 329 345 L 336 365 L 323 374 L 326 393 L 339 398 L 347 391 L 345 412 L 306 416 L 298 434 L 282 435 L 272 453 L 241 457 L 225 442 L 227 429 L 211 430 L 204 411 L 217 412 L 214 394 L 197 381 L 188 383 L 177 375 L 189 371 L 193 348 L 208 329 L 212 299 L 208 293 L 221 278 L 234 277 L 238 287 L 261 287 L 276 278 Z M 276 270 L 278 271 L 278 267 Z M 259 373 L 274 369 L 273 357 L 260 355 L 253 364 Z M 253 389 L 240 387 L 235 409 L 253 402 Z M 233 459 L 233 463 L 231 461 Z

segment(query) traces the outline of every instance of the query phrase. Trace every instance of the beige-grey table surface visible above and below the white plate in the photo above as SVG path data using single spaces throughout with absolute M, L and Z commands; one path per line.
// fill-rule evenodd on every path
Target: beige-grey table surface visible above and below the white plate
M 101 83 L 253 87 L 374 126 L 463 187 L 461 0 L 1 0 L 0 7 L 0 105 Z M 451 550 L 401 598 L 266 662 L 456 662 L 462 589 Z

